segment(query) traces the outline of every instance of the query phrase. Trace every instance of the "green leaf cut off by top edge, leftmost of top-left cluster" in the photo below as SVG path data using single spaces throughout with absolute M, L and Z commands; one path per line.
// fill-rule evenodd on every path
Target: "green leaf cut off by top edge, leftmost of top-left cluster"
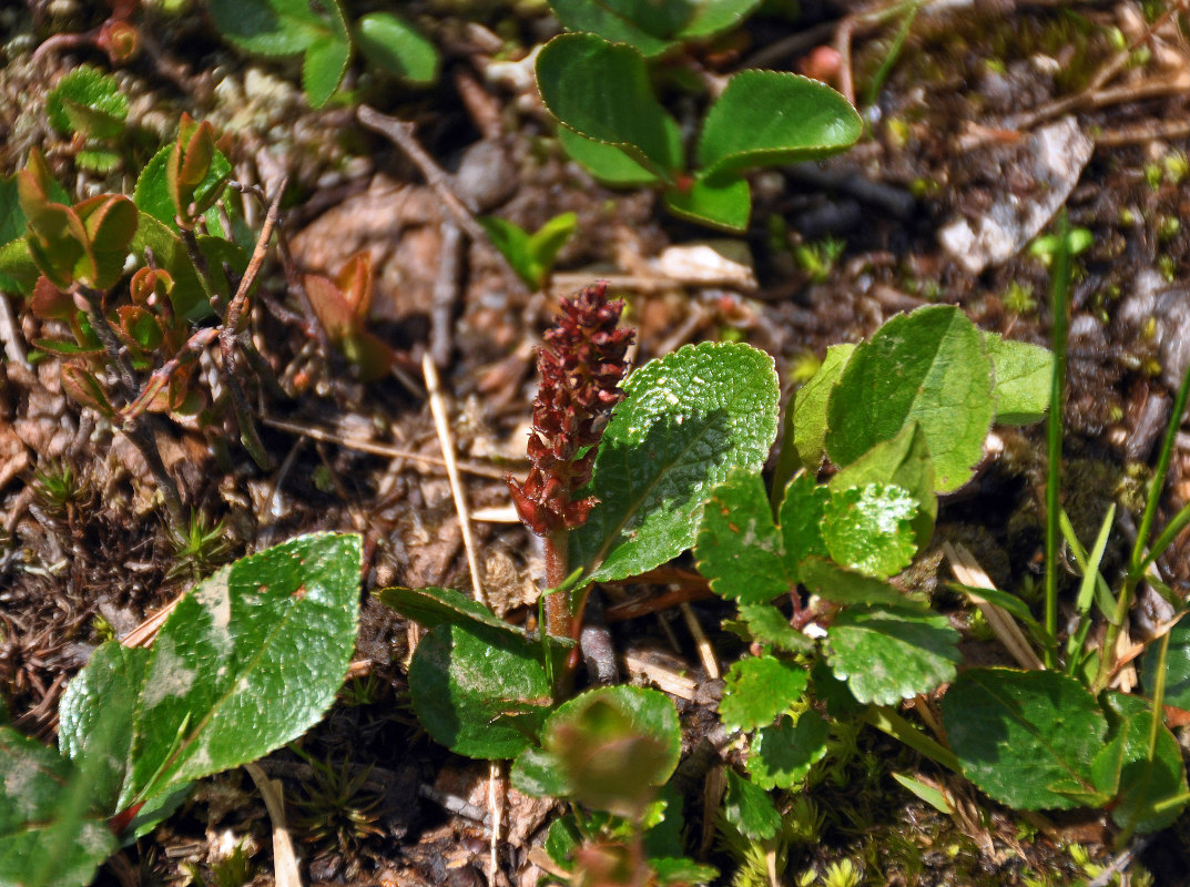
M 331 33 L 330 24 L 317 8 L 309 0 L 207 1 L 224 39 L 263 56 L 298 55 Z

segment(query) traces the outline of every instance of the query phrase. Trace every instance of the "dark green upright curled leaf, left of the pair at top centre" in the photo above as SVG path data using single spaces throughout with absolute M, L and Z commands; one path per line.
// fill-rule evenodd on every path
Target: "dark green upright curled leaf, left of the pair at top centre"
M 555 37 L 537 57 L 537 83 L 550 113 L 580 136 L 620 147 L 666 180 L 684 166 L 677 124 L 632 46 L 588 33 Z

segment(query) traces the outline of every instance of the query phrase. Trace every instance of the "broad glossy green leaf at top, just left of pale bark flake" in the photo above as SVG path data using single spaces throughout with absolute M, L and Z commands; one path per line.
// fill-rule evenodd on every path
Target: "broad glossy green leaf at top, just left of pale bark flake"
M 699 139 L 708 177 L 815 161 L 851 147 L 863 122 L 828 86 L 784 71 L 745 70 L 712 105 Z

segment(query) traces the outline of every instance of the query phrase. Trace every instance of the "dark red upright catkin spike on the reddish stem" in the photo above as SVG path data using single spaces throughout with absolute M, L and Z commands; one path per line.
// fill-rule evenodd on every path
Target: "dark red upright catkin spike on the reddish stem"
M 590 480 L 608 414 L 624 398 L 619 384 L 633 332 L 616 329 L 621 310 L 624 302 L 607 301 L 606 283 L 588 287 L 562 300 L 562 314 L 538 348 L 532 466 L 524 484 L 507 480 L 521 521 L 539 536 L 581 527 L 595 505 L 594 497 L 574 495 Z

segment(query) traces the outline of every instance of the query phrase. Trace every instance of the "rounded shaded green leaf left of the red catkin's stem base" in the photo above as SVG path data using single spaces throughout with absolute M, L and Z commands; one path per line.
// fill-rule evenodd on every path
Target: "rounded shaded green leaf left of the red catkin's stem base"
M 483 625 L 439 624 L 409 666 L 418 719 L 436 742 L 468 757 L 515 757 L 545 721 L 550 692 L 536 647 Z

